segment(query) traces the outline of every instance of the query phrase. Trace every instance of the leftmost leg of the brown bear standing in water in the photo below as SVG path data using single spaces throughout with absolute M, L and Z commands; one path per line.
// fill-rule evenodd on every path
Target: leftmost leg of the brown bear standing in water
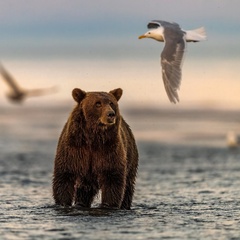
M 55 173 L 53 178 L 53 198 L 57 205 L 71 206 L 74 196 L 75 177 L 70 173 Z

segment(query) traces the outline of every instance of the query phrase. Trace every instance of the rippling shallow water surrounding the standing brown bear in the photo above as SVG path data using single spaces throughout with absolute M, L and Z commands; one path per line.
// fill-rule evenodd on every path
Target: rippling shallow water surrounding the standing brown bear
M 152 141 L 141 138 L 143 120 L 127 116 L 140 152 L 132 210 L 97 209 L 99 198 L 89 210 L 54 206 L 53 159 L 68 113 L 62 108 L 1 111 L 0 239 L 240 239 L 240 150 L 225 147 L 222 130 L 210 138 L 212 144 L 199 144 L 195 127 L 186 129 L 186 138 L 180 116 L 150 118 L 161 122 L 155 126 L 159 136 L 164 123 L 159 141 L 157 134 Z M 173 119 L 184 123 L 173 129 Z M 212 118 L 205 115 L 204 122 L 209 126 Z M 218 124 L 225 131 L 229 120 Z M 231 120 L 236 126 L 237 119 Z M 166 129 L 181 144 L 164 142 Z

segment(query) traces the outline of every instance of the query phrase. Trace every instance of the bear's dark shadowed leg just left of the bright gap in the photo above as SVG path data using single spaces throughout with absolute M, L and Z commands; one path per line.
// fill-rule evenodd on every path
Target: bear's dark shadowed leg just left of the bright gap
M 90 208 L 98 190 L 97 182 L 86 179 L 80 181 L 80 186 L 77 187 L 75 204 L 81 207 Z

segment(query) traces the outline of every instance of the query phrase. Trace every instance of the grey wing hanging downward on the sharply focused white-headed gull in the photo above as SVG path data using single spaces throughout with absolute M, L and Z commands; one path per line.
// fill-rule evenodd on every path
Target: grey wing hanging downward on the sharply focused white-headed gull
M 184 32 L 179 29 L 164 29 L 165 46 L 161 53 L 162 77 L 164 86 L 171 102 L 179 102 L 177 90 L 181 84 L 186 41 Z

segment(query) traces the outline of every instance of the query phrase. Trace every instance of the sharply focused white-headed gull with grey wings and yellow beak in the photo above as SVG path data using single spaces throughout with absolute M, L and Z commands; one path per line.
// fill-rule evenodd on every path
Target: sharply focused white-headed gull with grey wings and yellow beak
M 139 36 L 165 42 L 161 53 L 162 78 L 170 102 L 179 102 L 177 90 L 182 77 L 182 61 L 186 42 L 199 42 L 206 39 L 204 27 L 184 31 L 177 23 L 153 20 L 147 25 L 149 31 Z

